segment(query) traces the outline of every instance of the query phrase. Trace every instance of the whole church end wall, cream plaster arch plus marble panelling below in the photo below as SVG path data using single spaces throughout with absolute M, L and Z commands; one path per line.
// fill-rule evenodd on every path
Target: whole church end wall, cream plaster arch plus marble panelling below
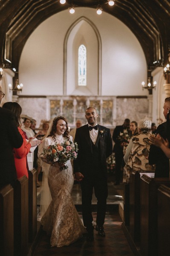
M 87 86 L 81 88 L 76 84 L 76 48 L 80 44 L 86 46 L 87 61 L 90 63 L 87 67 Z M 141 81 L 147 79 L 147 67 L 140 43 L 120 20 L 104 12 L 98 17 L 90 8 L 76 8 L 74 15 L 67 10 L 59 12 L 41 23 L 23 48 L 19 79 L 24 87 L 18 103 L 23 108 L 23 114 L 36 119 L 37 125 L 42 119 L 53 118 L 53 114 L 71 117 L 71 127 L 78 117 L 84 123 L 84 111 L 81 114 L 74 111 L 73 101 L 80 96 L 83 100 L 78 101 L 75 108 L 82 104 L 84 108 L 88 107 L 87 101 L 97 106 L 99 112 L 101 101 L 105 107 L 109 106 L 112 112 L 109 122 L 104 118 L 99 120 L 110 128 L 123 123 L 125 118 L 138 122 L 149 113 L 148 91 L 141 88 Z M 62 100 L 65 113 L 61 105 L 53 113 L 52 100 L 59 105 Z M 71 115 L 66 107 L 68 105 L 73 111 Z

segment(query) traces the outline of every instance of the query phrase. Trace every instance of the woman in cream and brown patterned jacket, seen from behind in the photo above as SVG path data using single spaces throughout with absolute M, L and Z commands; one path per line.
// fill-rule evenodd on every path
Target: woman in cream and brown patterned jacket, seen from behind
M 150 151 L 149 135 L 152 122 L 145 117 L 138 122 L 139 134 L 130 139 L 124 155 L 123 182 L 129 183 L 130 171 L 154 171 L 155 167 L 148 162 Z

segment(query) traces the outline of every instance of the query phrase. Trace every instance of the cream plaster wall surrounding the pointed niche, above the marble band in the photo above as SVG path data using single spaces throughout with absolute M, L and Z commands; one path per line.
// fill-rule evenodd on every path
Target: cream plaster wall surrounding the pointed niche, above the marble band
M 147 95 L 141 89 L 147 66 L 138 40 L 120 20 L 104 12 L 99 16 L 90 8 L 76 8 L 74 15 L 68 10 L 59 12 L 30 35 L 19 65 L 22 94 L 63 94 L 63 42 L 71 24 L 81 16 L 92 20 L 101 36 L 101 94 Z

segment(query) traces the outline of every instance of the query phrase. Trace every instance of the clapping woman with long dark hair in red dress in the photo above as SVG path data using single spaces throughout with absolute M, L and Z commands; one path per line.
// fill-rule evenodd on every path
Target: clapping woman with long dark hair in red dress
M 20 148 L 14 148 L 14 161 L 17 170 L 17 179 L 26 175 L 28 178 L 28 170 L 26 166 L 26 156 L 30 151 L 31 147 L 37 146 L 41 143 L 40 140 L 34 140 L 34 137 L 30 138 L 29 141 L 26 140 L 23 130 L 20 128 L 21 118 L 20 114 L 22 112 L 21 106 L 17 102 L 6 102 L 3 104 L 3 108 L 7 108 L 14 113 L 15 120 L 17 122 L 18 131 L 23 137 L 23 145 Z

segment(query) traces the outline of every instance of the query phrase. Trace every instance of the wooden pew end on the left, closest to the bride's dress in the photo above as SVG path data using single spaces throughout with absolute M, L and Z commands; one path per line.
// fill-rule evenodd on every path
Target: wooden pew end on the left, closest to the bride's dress
M 37 234 L 37 171 L 35 168 L 29 171 L 29 242 L 35 239 Z

